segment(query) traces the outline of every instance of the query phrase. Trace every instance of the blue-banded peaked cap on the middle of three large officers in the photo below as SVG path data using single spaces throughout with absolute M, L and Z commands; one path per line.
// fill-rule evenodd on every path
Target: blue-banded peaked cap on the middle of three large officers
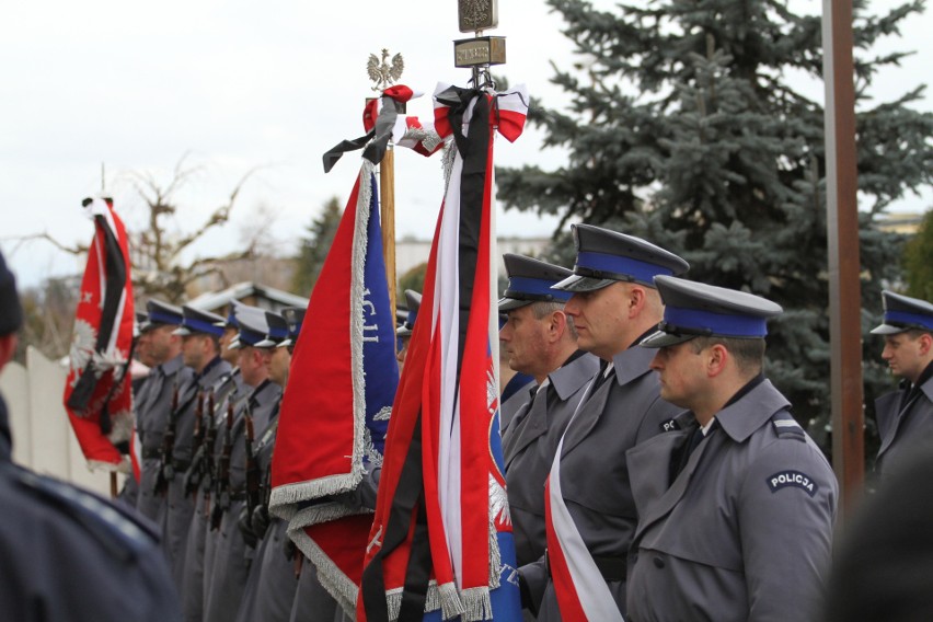
M 686 261 L 650 242 L 592 224 L 574 224 L 577 258 L 574 275 L 554 286 L 569 292 L 592 291 L 615 281 L 655 287 L 658 275 L 678 276 Z

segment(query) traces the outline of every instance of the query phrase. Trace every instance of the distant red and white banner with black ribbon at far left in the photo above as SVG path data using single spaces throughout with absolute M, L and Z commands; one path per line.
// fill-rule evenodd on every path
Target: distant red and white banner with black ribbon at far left
M 129 471 L 115 444 L 129 440 L 133 285 L 126 229 L 111 199 L 85 199 L 94 239 L 74 314 L 65 408 L 89 465 Z

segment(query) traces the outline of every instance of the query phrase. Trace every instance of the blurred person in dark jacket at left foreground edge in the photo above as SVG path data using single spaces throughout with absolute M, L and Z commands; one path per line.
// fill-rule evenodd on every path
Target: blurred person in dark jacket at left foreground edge
M 0 254 L 0 370 L 22 310 Z M 181 620 L 159 540 L 136 510 L 13 463 L 0 396 L 0 611 L 3 620 Z

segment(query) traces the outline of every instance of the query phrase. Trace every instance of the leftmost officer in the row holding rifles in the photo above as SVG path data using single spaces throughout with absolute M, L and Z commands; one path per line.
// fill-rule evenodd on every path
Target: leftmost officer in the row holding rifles
M 182 387 L 194 375 L 182 358 L 182 337 L 174 334 L 182 324 L 182 310 L 160 300 L 146 304 L 149 321 L 140 327 L 139 349 L 156 367 L 149 371 L 146 395 L 136 411 L 136 431 L 142 446 L 141 474 L 137 509 L 158 525 L 164 521 L 164 492 L 157 492 L 162 472 L 162 456 L 173 405 Z

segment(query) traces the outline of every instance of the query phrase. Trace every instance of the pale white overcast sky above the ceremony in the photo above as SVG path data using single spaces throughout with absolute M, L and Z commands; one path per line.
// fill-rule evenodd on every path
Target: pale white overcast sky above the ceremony
M 876 0 L 886 5 L 887 0 Z M 611 4 L 599 0 L 599 4 Z M 799 2 L 819 10 L 819 2 Z M 562 22 L 543 0 L 500 0 L 499 27 L 507 65 L 498 71 L 525 82 L 549 105 L 560 91 L 548 83 L 554 60 L 566 67 L 571 45 Z M 903 69 L 879 78 L 885 99 L 931 81 L 933 16 L 912 20 L 897 49 L 917 49 Z M 343 203 L 358 171 L 345 157 L 324 175 L 321 156 L 344 138 L 362 134 L 370 96 L 366 61 L 383 47 L 405 57 L 402 82 L 425 96 L 408 114 L 429 117 L 437 82 L 465 84 L 454 69 L 454 0 L 163 0 L 157 3 L 5 0 L 0 4 L 0 247 L 21 285 L 79 272 L 67 254 L 45 242 L 12 239 L 48 232 L 73 244 L 90 239 L 80 210 L 83 197 L 106 187 L 128 224 L 141 222 L 133 173 L 168 183 L 185 164 L 200 170 L 178 194 L 181 229 L 191 230 L 247 171 L 234 222 L 206 237 L 201 253 L 235 249 L 242 230 L 272 218 L 281 249 L 332 196 Z M 821 96 L 819 89 L 814 96 Z M 922 106 L 933 111 L 933 96 Z M 497 163 L 553 166 L 560 153 L 542 152 L 527 131 L 515 145 L 497 143 Z M 441 198 L 440 158 L 399 150 L 396 233 L 429 238 Z M 931 193 L 898 206 L 921 210 Z M 272 216 L 257 217 L 263 205 Z M 499 216 L 503 234 L 548 235 L 554 220 L 530 214 Z

